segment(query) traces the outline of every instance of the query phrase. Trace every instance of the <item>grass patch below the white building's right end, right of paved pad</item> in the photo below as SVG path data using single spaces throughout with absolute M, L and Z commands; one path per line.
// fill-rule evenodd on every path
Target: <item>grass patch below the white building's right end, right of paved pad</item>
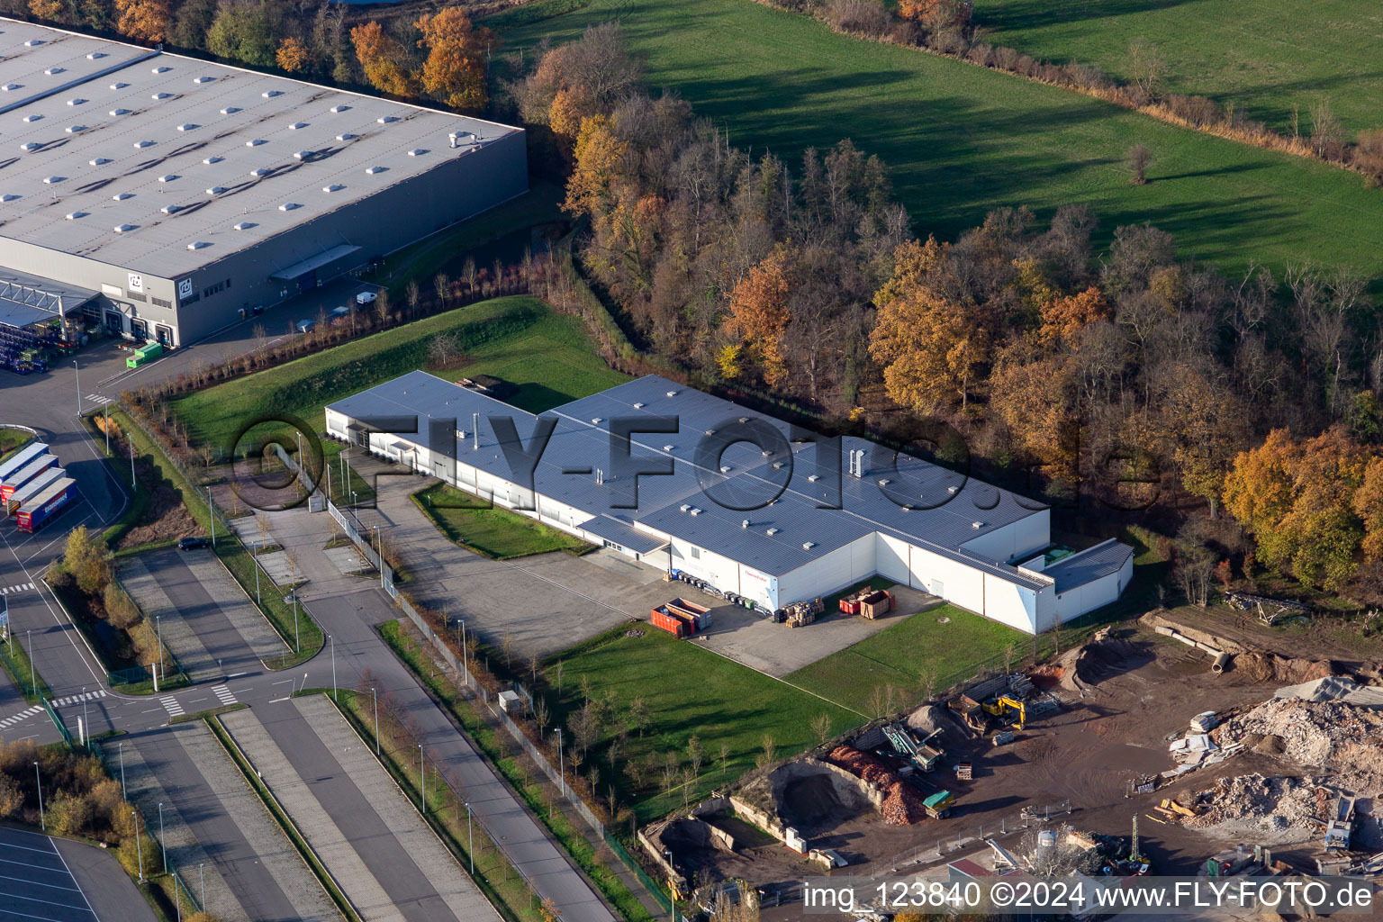
M 950 621 L 940 623 L 939 618 Z M 999 657 L 1008 646 L 1014 647 L 1017 665 L 1023 654 L 1032 652 L 1032 637 L 954 605 L 939 605 L 817 659 L 790 673 L 787 680 L 873 715 L 878 705 L 889 705 L 884 712 L 902 708 L 902 695 L 916 701 L 925 673 L 931 675 L 934 691 L 940 693 L 975 675 L 976 664 Z M 875 687 L 885 690 L 882 698 L 874 697 Z M 887 695 L 889 687 L 895 690 L 892 702 Z

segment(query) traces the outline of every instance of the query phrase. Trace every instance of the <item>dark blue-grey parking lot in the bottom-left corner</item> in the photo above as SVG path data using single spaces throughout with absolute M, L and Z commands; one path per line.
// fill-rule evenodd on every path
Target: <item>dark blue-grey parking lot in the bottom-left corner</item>
M 72 856 L 71 863 L 64 852 Z M 86 887 L 77 882 L 79 876 Z M 122 879 L 124 886 L 120 886 Z M 95 907 L 87 893 L 97 900 Z M 152 921 L 154 912 L 115 856 L 37 832 L 0 828 L 0 922 L 33 919 L 144 922 Z

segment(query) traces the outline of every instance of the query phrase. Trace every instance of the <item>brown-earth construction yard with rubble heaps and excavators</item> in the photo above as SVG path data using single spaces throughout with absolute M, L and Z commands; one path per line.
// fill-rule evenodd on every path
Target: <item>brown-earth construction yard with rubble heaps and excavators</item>
M 1239 610 L 1105 628 L 765 766 L 640 843 L 683 899 L 733 882 L 783 919 L 833 872 L 1383 879 L 1379 662 L 1308 626 L 1288 640 L 1301 611 Z

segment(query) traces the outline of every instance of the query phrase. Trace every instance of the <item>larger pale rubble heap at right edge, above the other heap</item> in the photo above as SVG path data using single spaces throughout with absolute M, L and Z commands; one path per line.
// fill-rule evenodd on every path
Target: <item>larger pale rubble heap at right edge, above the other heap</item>
M 1340 701 L 1270 698 L 1227 719 L 1213 735 L 1221 746 L 1242 742 L 1311 769 L 1332 760 L 1372 767 L 1359 766 L 1359 759 L 1375 764 L 1383 759 L 1383 712 Z

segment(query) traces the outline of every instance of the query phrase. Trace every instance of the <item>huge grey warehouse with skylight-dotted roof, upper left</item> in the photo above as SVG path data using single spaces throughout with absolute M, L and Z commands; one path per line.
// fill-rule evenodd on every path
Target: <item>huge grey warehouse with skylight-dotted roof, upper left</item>
M 527 189 L 523 131 L 0 19 L 0 323 L 191 343 Z

